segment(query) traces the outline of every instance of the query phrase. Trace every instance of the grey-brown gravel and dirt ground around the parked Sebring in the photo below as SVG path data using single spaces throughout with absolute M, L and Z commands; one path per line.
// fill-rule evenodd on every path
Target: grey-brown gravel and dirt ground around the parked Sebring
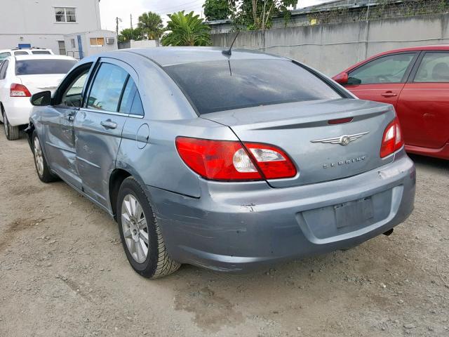
M 413 215 L 349 251 L 225 275 L 131 270 L 116 223 L 0 136 L 0 336 L 449 336 L 449 162 Z

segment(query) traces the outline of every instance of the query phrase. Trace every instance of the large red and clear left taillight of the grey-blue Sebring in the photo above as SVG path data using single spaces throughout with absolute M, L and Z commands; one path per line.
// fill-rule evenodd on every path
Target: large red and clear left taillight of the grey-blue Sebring
M 177 137 L 176 148 L 185 164 L 207 179 L 263 180 L 296 176 L 290 158 L 273 145 Z

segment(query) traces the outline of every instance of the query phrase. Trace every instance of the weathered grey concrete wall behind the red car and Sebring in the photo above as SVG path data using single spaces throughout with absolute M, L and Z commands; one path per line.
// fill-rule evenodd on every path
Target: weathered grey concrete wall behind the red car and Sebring
M 213 46 L 229 46 L 235 35 L 212 34 Z M 241 32 L 235 46 L 293 58 L 333 76 L 382 51 L 430 44 L 449 44 L 448 14 Z

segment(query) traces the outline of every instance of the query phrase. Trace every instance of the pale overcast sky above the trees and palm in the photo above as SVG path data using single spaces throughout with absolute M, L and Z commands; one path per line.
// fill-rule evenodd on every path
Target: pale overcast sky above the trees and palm
M 322 4 L 329 0 L 299 0 L 298 8 Z M 102 29 L 115 30 L 116 18 L 120 18 L 119 30 L 130 27 L 130 15 L 133 27 L 136 27 L 139 15 L 152 11 L 161 15 L 164 22 L 167 13 L 185 10 L 202 14 L 204 0 L 100 0 Z

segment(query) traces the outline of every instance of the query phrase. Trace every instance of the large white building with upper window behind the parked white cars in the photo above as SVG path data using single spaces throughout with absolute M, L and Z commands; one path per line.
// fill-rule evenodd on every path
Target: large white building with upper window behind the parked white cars
M 65 35 L 101 29 L 100 0 L 0 2 L 0 49 L 32 46 L 51 48 L 55 54 L 66 55 Z M 86 51 L 89 49 L 90 45 L 86 45 Z

